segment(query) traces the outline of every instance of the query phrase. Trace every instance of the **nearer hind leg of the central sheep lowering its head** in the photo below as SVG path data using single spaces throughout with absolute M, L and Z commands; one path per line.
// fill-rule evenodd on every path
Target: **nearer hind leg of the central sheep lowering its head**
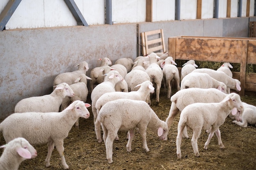
M 115 130 L 118 131 L 118 130 Z M 113 155 L 113 141 L 116 137 L 117 132 L 112 132 L 112 131 L 108 131 L 108 136 L 106 139 L 106 154 L 107 154 L 107 159 L 108 159 L 108 163 L 112 163 L 112 155 Z

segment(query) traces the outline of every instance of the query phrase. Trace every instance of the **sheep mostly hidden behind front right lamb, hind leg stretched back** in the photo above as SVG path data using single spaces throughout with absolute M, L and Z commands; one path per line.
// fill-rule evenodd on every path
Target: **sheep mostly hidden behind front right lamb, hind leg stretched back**
M 168 125 L 168 130 L 160 137 L 160 139 L 167 140 L 169 129 L 171 128 L 171 124 L 176 115 L 189 104 L 217 103 L 221 102 L 226 96 L 227 94 L 222 93 L 216 88 L 186 88 L 177 91 L 171 97 L 171 108 L 165 121 Z M 183 136 L 189 138 L 186 128 L 184 128 Z

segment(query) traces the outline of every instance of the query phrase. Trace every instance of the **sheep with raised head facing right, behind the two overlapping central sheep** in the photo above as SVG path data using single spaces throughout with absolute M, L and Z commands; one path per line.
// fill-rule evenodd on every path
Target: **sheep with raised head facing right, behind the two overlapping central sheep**
M 104 82 L 102 82 L 101 84 L 98 84 L 91 93 L 91 100 L 92 100 L 92 113 L 93 113 L 93 120 L 94 120 L 94 124 L 95 121 L 97 119 L 97 109 L 95 108 L 95 104 L 97 102 L 97 100 L 99 99 L 99 97 L 101 97 L 101 95 L 108 93 L 108 92 L 113 92 L 115 91 L 115 85 L 120 82 L 123 81 L 124 78 L 118 73 L 118 71 L 110 71 L 105 79 Z

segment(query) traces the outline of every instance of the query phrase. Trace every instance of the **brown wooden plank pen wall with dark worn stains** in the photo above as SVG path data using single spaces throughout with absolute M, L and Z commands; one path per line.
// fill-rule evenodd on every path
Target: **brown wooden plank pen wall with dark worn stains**
M 256 38 L 169 37 L 168 55 L 174 60 L 240 63 L 240 72 L 233 72 L 241 82 L 239 95 L 256 92 L 256 73 L 246 74 L 246 65 L 256 64 Z

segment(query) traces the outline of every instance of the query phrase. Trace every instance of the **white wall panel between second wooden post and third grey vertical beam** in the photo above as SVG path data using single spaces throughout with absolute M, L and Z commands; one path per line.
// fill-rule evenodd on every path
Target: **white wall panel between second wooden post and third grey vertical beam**
M 202 0 L 201 18 L 213 18 L 214 0 Z

